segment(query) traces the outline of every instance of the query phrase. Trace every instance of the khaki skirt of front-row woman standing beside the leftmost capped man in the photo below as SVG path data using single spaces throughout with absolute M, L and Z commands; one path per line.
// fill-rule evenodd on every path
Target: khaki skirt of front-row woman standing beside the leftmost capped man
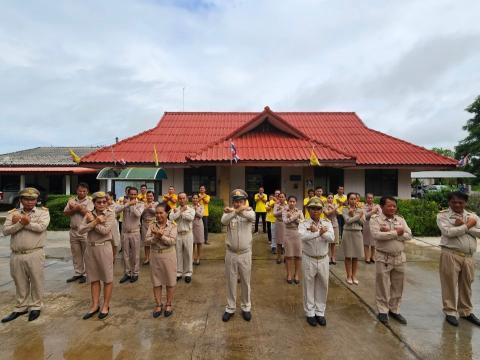
M 85 272 L 89 282 L 103 281 L 106 284 L 113 282 L 113 249 L 112 242 L 104 245 L 91 246 L 85 249 Z

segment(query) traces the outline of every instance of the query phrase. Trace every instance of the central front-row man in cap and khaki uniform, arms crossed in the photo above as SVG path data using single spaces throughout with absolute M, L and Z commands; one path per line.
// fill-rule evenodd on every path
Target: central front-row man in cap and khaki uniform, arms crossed
M 227 280 L 227 307 L 222 320 L 227 322 L 237 308 L 237 278 L 242 289 L 242 316 L 252 319 L 250 300 L 250 276 L 252 271 L 252 224 L 255 212 L 245 205 L 248 195 L 242 189 L 232 192 L 233 208 L 226 207 L 221 222 L 227 226 L 225 277 Z

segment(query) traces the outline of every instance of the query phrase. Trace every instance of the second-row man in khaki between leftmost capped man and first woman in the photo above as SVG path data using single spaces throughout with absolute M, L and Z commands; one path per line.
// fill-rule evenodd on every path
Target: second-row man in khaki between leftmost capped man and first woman
M 88 195 L 88 185 L 79 183 L 77 185 L 77 196 L 70 199 L 63 210 L 63 213 L 70 217 L 70 249 L 72 251 L 73 270 L 75 275 L 67 279 L 67 283 L 77 281 L 85 283 L 85 248 L 87 243 L 87 234 L 80 234 L 78 228 L 82 223 L 83 217 L 89 211 L 93 210 L 93 202 Z

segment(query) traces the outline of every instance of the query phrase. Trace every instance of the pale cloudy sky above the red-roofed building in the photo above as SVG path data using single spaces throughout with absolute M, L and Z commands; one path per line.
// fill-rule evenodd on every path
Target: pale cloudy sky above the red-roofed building
M 480 95 L 480 1 L 0 0 L 0 153 L 164 111 L 355 111 L 426 147 Z

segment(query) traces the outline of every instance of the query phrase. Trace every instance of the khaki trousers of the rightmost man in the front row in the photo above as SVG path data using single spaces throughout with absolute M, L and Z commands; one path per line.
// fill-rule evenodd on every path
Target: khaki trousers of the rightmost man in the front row
M 448 250 L 440 254 L 440 284 L 443 312 L 446 315 L 468 316 L 473 310 L 472 283 L 475 262 Z M 458 295 L 457 295 L 458 294 Z

